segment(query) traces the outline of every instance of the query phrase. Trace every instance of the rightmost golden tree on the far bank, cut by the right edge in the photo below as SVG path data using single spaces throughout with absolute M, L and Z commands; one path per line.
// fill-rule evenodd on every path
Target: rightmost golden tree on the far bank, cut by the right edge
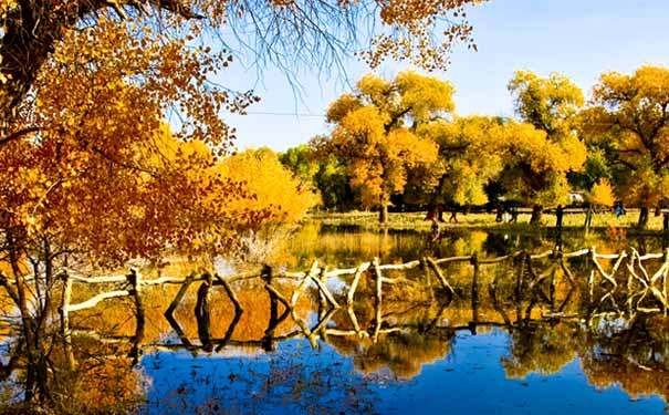
M 582 115 L 587 139 L 623 172 L 624 201 L 641 207 L 640 228 L 648 209 L 669 198 L 668 110 L 669 70 L 641 66 L 633 74 L 603 74 Z

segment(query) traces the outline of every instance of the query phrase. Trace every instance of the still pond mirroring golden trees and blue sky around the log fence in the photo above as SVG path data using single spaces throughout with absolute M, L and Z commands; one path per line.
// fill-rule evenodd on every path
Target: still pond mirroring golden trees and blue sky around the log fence
M 660 252 L 661 240 L 619 231 L 562 236 L 563 252 L 596 247 L 603 255 L 596 264 L 585 252 L 518 253 L 552 250 L 555 238 L 311 222 L 266 259 L 274 288 L 266 278 L 230 284 L 243 312 L 236 312 L 227 287 L 212 284 L 205 298 L 196 282 L 168 319 L 164 312 L 179 287 L 145 289 L 139 344 L 129 300 L 72 313 L 79 370 L 54 375 L 53 393 L 66 395 L 72 412 L 95 402 L 137 414 L 669 411 L 669 320 L 652 290 L 630 277 L 647 272 L 651 280 L 661 271 L 663 258 L 644 259 Z M 641 260 L 620 260 L 614 271 L 615 253 L 633 249 Z M 484 263 L 502 256 L 510 258 Z M 383 295 L 372 269 L 357 283 L 353 272 L 343 273 L 299 295 L 300 279 L 281 279 L 309 271 L 314 259 L 325 270 L 355 271 L 374 258 L 399 264 L 447 257 L 469 258 L 440 264 L 452 292 L 427 260 L 410 270 L 384 269 Z M 655 287 L 661 294 L 667 283 Z M 332 307 L 326 293 L 342 307 Z M 18 342 L 10 333 L 4 343 L 8 369 Z M 7 374 L 6 400 L 20 396 L 20 370 Z

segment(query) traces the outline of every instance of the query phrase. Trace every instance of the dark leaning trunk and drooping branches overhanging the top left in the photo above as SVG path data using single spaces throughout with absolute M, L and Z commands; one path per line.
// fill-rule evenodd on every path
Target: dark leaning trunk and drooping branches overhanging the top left
M 212 1 L 212 0 L 44 0 L 0 2 L 0 124 L 2 141 L 21 135 L 12 129 L 19 105 L 27 97 L 43 65 L 61 52 L 66 37 L 88 37 L 101 18 L 116 28 L 128 22 L 160 28 L 170 41 L 181 39 L 202 45 L 218 35 L 207 32 L 230 29 L 234 39 L 223 44 L 249 45 L 257 61 L 270 60 L 281 68 L 296 61 L 337 62 L 341 53 L 358 49 L 358 23 L 373 20 L 380 30 L 367 33 L 368 46 L 360 56 L 372 65 L 385 58 L 407 59 L 428 69 L 448 63 L 453 43 L 470 41 L 471 27 L 464 8 L 479 0 L 383 1 Z M 374 27 L 365 25 L 362 27 Z M 299 28 L 299 30 L 295 30 Z M 250 33 L 250 35 L 249 35 Z M 435 34 L 440 33 L 440 34 Z M 105 43 L 104 31 L 94 31 Z M 222 37 L 222 35 L 221 35 Z M 137 38 L 142 38 L 140 32 Z M 158 43 L 151 43 L 156 46 Z M 122 49 L 122 44 L 114 44 Z M 93 46 L 102 51 L 102 48 Z M 227 49 L 227 48 L 226 48 Z M 290 53 L 285 53 L 290 51 Z M 178 60 L 178 56 L 173 56 Z M 127 55 L 142 60 L 142 54 Z

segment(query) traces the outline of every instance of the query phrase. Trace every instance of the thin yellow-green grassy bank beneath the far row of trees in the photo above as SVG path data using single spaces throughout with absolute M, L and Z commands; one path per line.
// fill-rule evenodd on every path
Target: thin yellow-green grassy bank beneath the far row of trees
M 662 230 L 662 216 L 655 216 L 652 212 L 648 218 L 648 227 L 645 230 L 638 230 L 636 224 L 638 220 L 638 210 L 629 209 L 627 215 L 616 218 L 613 212 L 593 215 L 592 227 L 594 231 L 605 231 L 615 228 L 623 228 L 627 234 L 657 234 Z M 446 222 L 440 227 L 446 228 L 472 228 L 472 229 L 496 229 L 511 231 L 532 231 L 555 227 L 555 215 L 544 214 L 542 227 L 530 225 L 530 214 L 520 214 L 516 224 L 504 224 L 495 221 L 495 214 L 458 214 L 458 224 L 448 221 L 450 212 L 443 214 Z M 362 228 L 378 228 L 378 212 L 375 211 L 351 211 L 345 214 L 315 212 L 310 216 L 325 225 L 359 226 Z M 431 222 L 425 220 L 426 212 L 390 212 L 388 215 L 387 227 L 389 229 L 429 229 Z M 563 227 L 565 231 L 583 231 L 585 214 L 567 211 L 564 215 Z

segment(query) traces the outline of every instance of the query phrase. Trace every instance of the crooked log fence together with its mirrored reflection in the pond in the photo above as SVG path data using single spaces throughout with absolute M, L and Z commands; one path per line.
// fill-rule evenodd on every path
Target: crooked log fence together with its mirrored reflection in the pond
M 576 281 L 573 272 L 569 269 L 568 259 L 583 257 L 590 260 L 594 268 L 589 271 L 587 281 Z M 541 259 L 550 259 L 551 266 L 543 272 L 535 270 L 536 261 Z M 605 266 L 602 263 L 603 260 L 615 261 L 613 267 L 607 271 Z M 650 263 L 648 261 L 658 261 L 661 264 L 655 271 L 649 271 Z M 161 277 L 153 280 L 145 280 L 142 278 L 137 270 L 132 269 L 127 276 L 116 277 L 100 277 L 100 278 L 82 278 L 65 276 L 63 283 L 63 303 L 60 309 L 61 312 L 61 329 L 63 338 L 65 339 L 66 351 L 71 360 L 71 364 L 74 364 L 74 356 L 72 353 L 71 345 L 71 329 L 70 329 L 70 313 L 90 309 L 96 307 L 101 301 L 130 297 L 134 300 L 136 311 L 136 333 L 133 339 L 136 347 L 142 343 L 144 336 L 144 307 L 142 302 L 142 290 L 146 286 L 160 286 L 160 284 L 180 284 L 180 289 L 170 302 L 169 307 L 165 311 L 165 315 L 175 328 L 175 331 L 181 339 L 185 346 L 191 346 L 189 340 L 184 335 L 178 322 L 174 319 L 174 311 L 177 309 L 182 298 L 187 293 L 189 287 L 195 282 L 201 282 L 197 291 L 197 303 L 195 308 L 195 314 L 198 322 L 198 335 L 202 344 L 202 349 L 211 351 L 213 345 L 218 345 L 217 349 L 222 349 L 226 344 L 230 344 L 231 336 L 234 331 L 234 325 L 240 319 L 243 312 L 243 307 L 236 295 L 236 290 L 232 284 L 240 281 L 257 280 L 263 283 L 264 289 L 270 294 L 272 315 L 270 319 L 270 325 L 265 331 L 265 338 L 259 341 L 263 347 L 269 347 L 272 341 L 276 340 L 273 336 L 274 329 L 290 314 L 295 323 L 300 326 L 301 333 L 292 333 L 286 338 L 303 335 L 309 339 L 313 346 L 316 346 L 316 339 L 318 335 L 357 335 L 357 336 L 370 336 L 374 342 L 378 341 L 380 333 L 393 331 L 394 329 L 383 328 L 384 317 L 381 314 L 383 301 L 384 301 L 384 284 L 400 284 L 411 283 L 417 284 L 417 281 L 410 280 L 406 277 L 406 273 L 401 277 L 389 278 L 385 277 L 384 273 L 387 271 L 407 271 L 411 269 L 422 269 L 428 277 L 426 279 L 426 286 L 431 287 L 430 272 L 438 279 L 440 287 L 443 289 L 448 301 L 454 295 L 458 295 L 457 290 L 453 289 L 452 281 L 449 281 L 445 268 L 451 263 L 461 263 L 470 266 L 472 269 L 471 280 L 471 302 L 472 302 L 472 323 L 470 324 L 475 331 L 475 325 L 480 324 L 478 321 L 478 305 L 479 305 L 479 277 L 480 269 L 484 266 L 492 266 L 504 261 L 514 261 L 520 267 L 519 272 L 515 276 L 515 290 L 514 299 L 519 304 L 518 320 L 521 319 L 522 312 L 520 304 L 523 301 L 527 301 L 529 305 L 525 312 L 525 317 L 529 317 L 530 311 L 537 301 L 541 301 L 542 297 L 545 298 L 551 304 L 551 315 L 560 317 L 563 314 L 566 303 L 569 301 L 572 291 L 577 288 L 578 283 L 587 287 L 589 303 L 592 305 L 592 313 L 598 312 L 599 308 L 605 304 L 609 304 L 613 312 L 616 313 L 629 313 L 636 312 L 663 312 L 667 314 L 668 307 L 668 281 L 667 274 L 669 272 L 669 250 L 663 253 L 650 253 L 640 255 L 636 250 L 631 249 L 628 253 L 623 251 L 620 253 L 608 255 L 598 253 L 595 248 L 582 249 L 574 252 L 562 252 L 560 250 L 546 251 L 539 255 L 531 255 L 525 251 L 519 251 L 503 257 L 498 258 L 485 258 L 481 259 L 477 255 L 451 257 L 451 258 L 422 258 L 406 263 L 399 264 L 381 264 L 378 259 L 375 258 L 369 262 L 364 262 L 356 268 L 348 269 L 331 269 L 327 267 L 321 267 L 318 261 L 314 261 L 311 268 L 305 272 L 282 272 L 273 273 L 270 267 L 263 267 L 262 270 L 255 272 L 249 272 L 243 274 L 237 274 L 232 277 L 222 278 L 216 273 L 202 273 L 202 274 L 190 274 L 186 278 L 174 278 L 174 277 Z M 625 267 L 624 267 L 625 266 Z M 561 269 L 563 274 L 568 282 L 571 290 L 566 295 L 562 304 L 557 305 L 555 302 L 555 287 L 556 287 L 556 270 Z M 620 274 L 627 271 L 626 278 L 620 278 Z M 374 281 L 374 298 L 375 298 L 375 323 L 374 326 L 368 331 L 360 329 L 357 318 L 353 310 L 354 295 L 358 288 L 360 280 L 367 276 Z M 597 278 L 599 276 L 599 278 Z M 351 283 L 347 286 L 347 290 L 344 293 L 334 295 L 327 288 L 327 280 L 336 277 L 348 277 L 352 278 Z M 289 298 L 284 297 L 273 281 L 284 279 L 292 280 L 295 283 L 292 286 L 292 292 Z M 102 292 L 86 301 L 72 304 L 72 289 L 73 283 L 122 283 L 125 284 L 123 289 Z M 324 312 L 320 313 L 318 322 L 313 328 L 309 328 L 296 314 L 295 307 L 299 298 L 304 293 L 305 289 L 313 284 L 316 288 L 321 303 L 327 305 L 324 308 Z M 540 290 L 542 286 L 548 284 L 548 294 L 546 295 Z M 222 340 L 216 340 L 211 336 L 210 322 L 209 322 L 209 303 L 210 303 L 210 290 L 215 286 L 221 286 L 224 289 L 226 295 L 234 307 L 234 319 Z M 595 295 L 595 291 L 602 290 L 596 287 L 602 287 L 604 292 L 600 297 Z M 489 286 L 489 292 L 493 302 L 493 308 L 500 312 L 504 322 L 510 325 L 511 319 L 506 313 L 499 307 L 496 301 L 496 288 L 498 281 L 495 280 Z M 599 295 L 599 294 L 598 294 Z M 327 323 L 332 319 L 334 312 L 341 308 L 339 302 L 346 303 L 346 311 L 352 323 L 352 330 L 341 330 L 327 328 Z M 278 314 L 278 303 L 282 303 L 285 311 Z M 655 305 L 655 307 L 649 307 Z M 516 320 L 516 321 L 518 321 Z

